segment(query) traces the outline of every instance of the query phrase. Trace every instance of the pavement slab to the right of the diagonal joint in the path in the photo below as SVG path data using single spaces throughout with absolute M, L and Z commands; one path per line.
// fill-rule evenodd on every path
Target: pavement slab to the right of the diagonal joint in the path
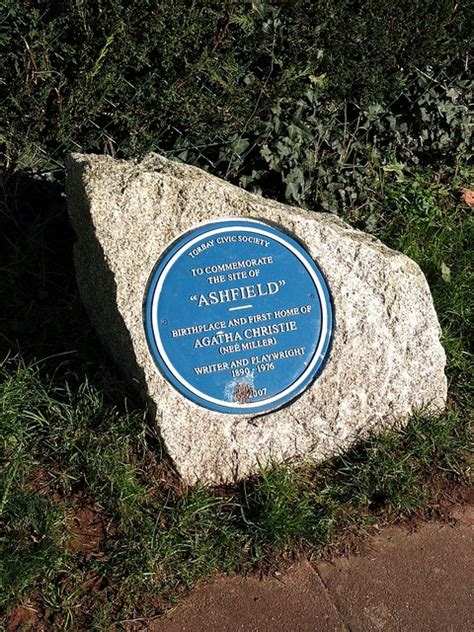
M 456 518 L 384 530 L 363 555 L 317 565 L 352 632 L 474 630 L 474 508 Z

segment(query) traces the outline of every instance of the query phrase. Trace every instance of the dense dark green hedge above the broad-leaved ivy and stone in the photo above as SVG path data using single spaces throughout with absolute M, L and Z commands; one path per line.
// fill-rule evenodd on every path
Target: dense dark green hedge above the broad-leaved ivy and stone
M 225 174 L 236 150 L 252 149 L 247 134 L 282 99 L 296 109 L 308 81 L 330 107 L 388 98 L 415 66 L 459 60 L 472 23 L 467 0 L 4 6 L 0 140 L 18 169 L 61 167 L 74 149 L 192 148 L 202 165 L 222 161 Z

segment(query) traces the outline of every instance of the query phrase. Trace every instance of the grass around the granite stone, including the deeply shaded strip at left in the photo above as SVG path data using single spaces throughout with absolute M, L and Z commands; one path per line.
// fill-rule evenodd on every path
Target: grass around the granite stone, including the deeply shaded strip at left
M 2 215 L 0 607 L 52 628 L 156 616 L 216 572 L 318 554 L 417 515 L 469 475 L 473 218 L 465 171 L 389 181 L 375 232 L 421 265 L 448 354 L 450 405 L 318 466 L 187 489 L 114 373 L 74 284 L 61 186 L 11 181 Z M 34 200 L 28 206 L 28 200 Z M 39 361 L 38 358 L 44 358 Z M 7 621 L 7 614 L 5 614 Z M 122 625 L 122 624 L 119 624 Z

